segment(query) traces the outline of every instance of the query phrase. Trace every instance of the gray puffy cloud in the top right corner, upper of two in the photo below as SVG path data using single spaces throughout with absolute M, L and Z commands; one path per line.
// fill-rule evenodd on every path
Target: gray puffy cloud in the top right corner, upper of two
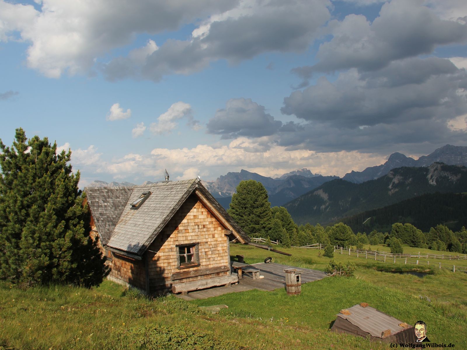
M 441 20 L 421 1 L 393 0 L 382 6 L 369 23 L 363 15 L 350 14 L 329 24 L 333 38 L 320 45 L 313 66 L 292 70 L 309 79 L 314 72 L 357 68 L 378 70 L 391 61 L 429 54 L 438 45 L 463 43 L 467 25 Z

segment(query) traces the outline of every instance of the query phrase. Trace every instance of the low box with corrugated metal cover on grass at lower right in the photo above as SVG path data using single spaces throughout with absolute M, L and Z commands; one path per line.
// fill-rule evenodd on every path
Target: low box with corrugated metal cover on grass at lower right
M 401 327 L 403 322 L 389 316 L 375 308 L 354 305 L 347 309 L 350 315 L 338 314 L 331 330 L 335 332 L 351 333 L 358 336 L 369 336 L 373 340 L 386 342 L 415 342 L 415 333 L 411 325 Z M 391 330 L 389 336 L 382 337 L 387 329 Z

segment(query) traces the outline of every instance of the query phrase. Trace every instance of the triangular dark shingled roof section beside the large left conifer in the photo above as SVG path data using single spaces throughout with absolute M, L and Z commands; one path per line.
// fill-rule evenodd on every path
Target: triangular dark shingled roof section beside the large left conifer
M 88 205 L 103 245 L 108 243 L 133 188 L 134 186 L 85 188 Z

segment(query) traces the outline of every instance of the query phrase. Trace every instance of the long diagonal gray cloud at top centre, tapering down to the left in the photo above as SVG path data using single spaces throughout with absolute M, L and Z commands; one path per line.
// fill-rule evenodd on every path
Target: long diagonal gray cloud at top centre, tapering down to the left
M 258 1 L 245 14 L 225 15 L 190 40 L 168 40 L 145 62 L 118 57 L 100 68 L 109 80 L 136 77 L 160 81 L 164 75 L 191 74 L 210 62 L 238 63 L 264 52 L 304 51 L 330 18 L 327 0 Z

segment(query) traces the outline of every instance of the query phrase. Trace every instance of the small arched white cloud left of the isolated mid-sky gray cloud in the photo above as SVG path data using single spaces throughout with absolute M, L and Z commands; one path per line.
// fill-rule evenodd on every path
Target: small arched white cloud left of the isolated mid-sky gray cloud
M 161 135 L 163 133 L 170 133 L 178 126 L 177 120 L 186 118 L 187 125 L 191 126 L 193 130 L 199 130 L 199 121 L 193 119 L 191 115 L 191 105 L 178 101 L 170 106 L 167 112 L 161 114 L 157 118 L 156 123 L 151 123 L 150 130 L 154 134 Z

